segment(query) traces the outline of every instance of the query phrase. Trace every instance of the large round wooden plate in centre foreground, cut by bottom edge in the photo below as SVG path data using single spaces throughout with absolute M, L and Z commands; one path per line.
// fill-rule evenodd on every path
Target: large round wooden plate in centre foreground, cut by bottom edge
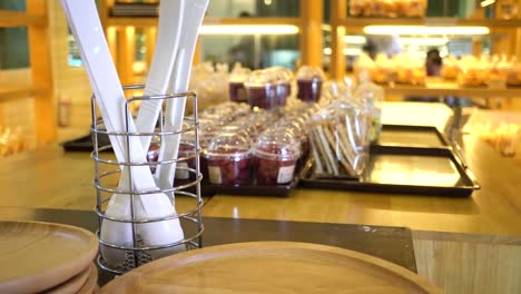
M 158 259 L 101 293 L 440 293 L 395 264 L 337 247 L 237 243 Z

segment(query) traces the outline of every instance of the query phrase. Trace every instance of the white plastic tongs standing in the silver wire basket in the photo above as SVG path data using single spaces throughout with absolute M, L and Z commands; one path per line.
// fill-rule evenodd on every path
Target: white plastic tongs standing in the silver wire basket
M 207 0 L 203 2 L 207 3 Z M 122 133 L 126 131 L 126 125 L 128 124 L 129 133 L 151 133 L 156 126 L 161 104 L 157 101 L 144 101 L 136 121 L 137 126 L 134 124 L 130 115 L 128 115 L 129 120 L 126 121 L 125 94 L 109 53 L 95 1 L 61 0 L 61 4 L 79 45 L 80 53 L 107 130 Z M 164 94 L 171 87 L 170 79 L 175 58 L 178 56 L 180 32 L 187 26 L 184 21 L 193 24 L 191 21 L 188 21 L 189 18 L 186 18 L 188 7 L 191 7 L 191 3 L 185 7 L 184 0 L 160 2 L 161 14 L 159 17 L 157 47 L 145 87 L 145 95 Z M 203 8 L 206 10 L 206 6 Z M 201 14 L 204 13 L 205 11 L 201 11 Z M 188 79 L 185 82 L 188 85 Z M 183 121 L 183 117 L 180 121 Z M 109 136 L 109 139 L 119 161 L 126 161 L 127 158 L 130 161 L 146 161 L 145 150 L 148 149 L 150 144 L 149 136 L 142 136 L 140 139 L 130 136 L 129 144 L 131 151 L 129 154 L 126 154 L 127 149 L 124 148 L 125 140 L 121 136 Z M 130 169 L 132 173 L 132 184 L 136 189 L 158 189 L 156 180 L 147 166 L 132 166 Z M 129 183 L 126 176 L 128 169 L 122 170 L 119 188 L 128 189 Z M 129 219 L 129 198 L 126 195 L 112 195 L 106 214 L 115 218 Z M 150 219 L 174 214 L 176 214 L 175 208 L 168 196 L 164 193 L 138 197 L 136 215 L 138 218 Z M 138 231 L 148 246 L 170 244 L 184 238 L 178 219 L 140 224 L 138 225 Z M 101 238 L 111 244 L 130 246 L 132 244 L 131 226 L 126 223 L 104 220 Z M 156 256 L 154 257 L 160 257 L 165 254 L 169 254 L 169 252 L 156 252 Z M 112 251 L 111 248 L 105 248 L 104 257 L 112 266 L 119 265 L 125 258 L 121 251 Z

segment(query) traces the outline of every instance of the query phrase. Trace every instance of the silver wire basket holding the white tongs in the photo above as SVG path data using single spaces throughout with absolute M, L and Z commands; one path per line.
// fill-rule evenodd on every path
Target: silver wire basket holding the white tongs
M 124 87 L 126 92 L 131 90 L 141 90 L 144 88 L 142 85 L 137 86 L 128 86 Z M 193 249 L 193 248 L 200 248 L 203 246 L 201 243 L 201 235 L 204 232 L 204 225 L 201 222 L 201 207 L 204 206 L 204 202 L 200 197 L 200 180 L 203 175 L 199 170 L 199 155 L 200 155 L 200 147 L 199 147 L 199 133 L 198 133 L 198 118 L 197 118 L 197 97 L 193 92 L 185 92 L 185 94 L 173 94 L 173 95 L 154 95 L 154 96 L 136 96 L 127 99 L 125 104 L 125 116 L 126 116 L 126 130 L 122 133 L 111 133 L 105 128 L 102 119 L 97 118 L 97 104 L 96 97 L 92 96 L 91 98 L 91 117 L 92 117 L 92 143 L 94 143 L 94 151 L 91 157 L 95 161 L 95 183 L 94 186 L 96 188 L 96 196 L 97 196 L 97 205 L 96 205 L 96 213 L 99 216 L 99 229 L 97 235 L 99 237 L 99 246 L 100 246 L 100 254 L 98 256 L 98 265 L 108 271 L 112 274 L 124 274 L 132 268 L 136 268 L 145 263 L 148 263 L 155 258 L 161 257 L 164 255 L 173 254 L 174 251 L 185 251 L 185 249 Z M 136 109 L 142 101 L 146 100 L 156 100 L 160 102 L 163 106 L 168 100 L 173 99 L 186 99 L 187 101 L 191 101 L 191 115 L 185 116 L 183 121 L 183 127 L 176 131 L 165 131 L 164 126 L 164 109 L 161 107 L 159 119 L 156 125 L 156 129 L 153 133 L 131 133 L 129 131 L 128 121 L 132 119 L 131 109 Z M 102 138 L 105 136 L 105 138 Z M 125 141 L 125 158 L 124 161 L 118 161 L 116 156 L 111 151 L 111 145 L 106 144 L 104 145 L 102 141 L 108 141 L 107 136 L 120 136 L 124 138 Z M 150 154 L 154 154 L 154 150 L 150 148 L 147 151 L 147 160 L 146 161 L 131 161 L 130 160 L 130 144 L 129 139 L 131 137 L 141 138 L 142 136 L 148 136 L 151 138 L 151 146 L 160 146 L 161 141 L 168 136 L 181 136 L 181 140 L 186 143 L 186 146 L 189 146 L 188 150 L 179 153 L 177 159 L 170 160 L 154 160 L 150 157 Z M 104 140 L 105 139 L 105 140 Z M 181 164 L 185 163 L 185 164 Z M 174 180 L 173 187 L 160 188 L 157 187 L 153 190 L 138 190 L 134 187 L 132 182 L 132 167 L 142 167 L 147 166 L 151 168 L 153 173 L 156 167 L 163 165 L 175 165 L 176 166 L 176 174 L 184 173 L 185 175 L 189 175 L 185 180 Z M 128 173 L 124 173 L 122 170 L 128 168 Z M 128 176 L 128 188 L 119 187 L 119 180 L 121 177 Z M 183 196 L 188 199 L 189 205 L 188 208 L 184 207 L 185 210 L 177 212 L 171 215 L 167 215 L 165 217 L 142 217 L 139 216 L 137 213 L 140 197 L 146 197 L 150 194 L 160 194 L 164 193 L 170 196 L 170 204 L 174 207 L 175 212 L 175 196 Z M 126 199 L 129 202 L 129 214 L 125 216 L 110 216 L 107 214 L 107 206 L 111 197 L 129 197 Z M 184 205 L 185 206 L 185 205 Z M 125 244 L 118 242 L 109 242 L 102 237 L 102 223 L 104 222 L 115 222 L 112 224 L 117 224 L 120 228 L 128 228 L 126 232 L 129 233 L 131 236 L 131 242 L 126 242 Z M 170 223 L 161 223 L 161 222 L 170 222 Z M 183 239 L 173 239 L 168 242 L 168 244 L 147 244 L 147 242 L 140 235 L 142 229 L 150 228 L 151 224 L 157 225 L 168 225 L 171 222 L 179 222 L 180 226 L 183 227 Z M 110 223 L 108 223 L 110 224 Z M 120 233 L 120 232 L 118 232 Z M 116 234 L 116 233 L 115 233 Z M 115 264 L 114 262 L 107 262 L 110 254 L 104 257 L 105 253 L 110 254 L 119 254 L 121 256 L 121 262 Z

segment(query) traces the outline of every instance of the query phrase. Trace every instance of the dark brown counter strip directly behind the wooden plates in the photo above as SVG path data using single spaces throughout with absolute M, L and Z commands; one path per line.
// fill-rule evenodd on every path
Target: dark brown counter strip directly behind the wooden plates
M 91 232 L 98 228 L 98 217 L 89 210 L 2 207 L 0 219 L 61 223 Z M 205 247 L 258 241 L 316 243 L 373 255 L 416 272 L 411 231 L 405 227 L 227 217 L 204 217 L 203 223 Z

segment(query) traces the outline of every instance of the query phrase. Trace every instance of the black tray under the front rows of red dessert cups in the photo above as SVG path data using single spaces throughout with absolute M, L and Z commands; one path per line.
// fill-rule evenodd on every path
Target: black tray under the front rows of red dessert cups
M 200 183 L 200 189 L 203 196 L 214 196 L 216 194 L 225 195 L 239 195 L 239 196 L 275 196 L 275 197 L 287 197 L 289 193 L 298 186 L 304 171 L 309 170 L 311 160 L 304 160 L 301 166 L 296 166 L 295 177 L 292 182 L 284 185 L 257 185 L 255 179 L 252 178 L 249 183 L 244 185 L 226 186 L 210 184 L 208 177 L 203 175 Z

